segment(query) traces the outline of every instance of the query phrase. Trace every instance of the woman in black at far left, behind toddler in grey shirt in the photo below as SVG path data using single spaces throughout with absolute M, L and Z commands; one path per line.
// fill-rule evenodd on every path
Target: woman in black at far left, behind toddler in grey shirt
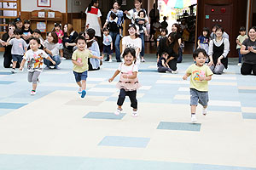
M 3 34 L 2 40 L 4 42 L 7 42 L 7 41 L 9 41 L 9 39 L 14 38 L 14 31 L 15 31 L 15 23 L 9 22 L 8 30 L 6 33 Z M 12 64 L 11 50 L 12 50 L 12 45 L 5 46 L 5 51 L 3 54 L 3 67 L 4 68 L 10 68 L 10 65 Z M 20 67 L 20 65 L 16 65 L 16 68 L 19 68 L 19 67 Z

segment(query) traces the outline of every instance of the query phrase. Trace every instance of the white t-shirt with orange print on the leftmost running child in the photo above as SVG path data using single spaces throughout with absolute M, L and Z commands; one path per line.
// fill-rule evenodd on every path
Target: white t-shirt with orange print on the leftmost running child
M 29 72 L 32 71 L 43 71 L 44 58 L 47 58 L 48 54 L 44 52 L 42 49 L 38 49 L 38 51 L 32 51 L 29 49 L 24 54 L 23 59 L 27 60 L 27 70 Z

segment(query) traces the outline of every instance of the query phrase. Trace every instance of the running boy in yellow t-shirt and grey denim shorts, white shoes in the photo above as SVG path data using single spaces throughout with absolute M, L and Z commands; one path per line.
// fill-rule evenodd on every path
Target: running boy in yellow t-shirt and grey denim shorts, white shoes
M 202 48 L 195 49 L 193 53 L 195 64 L 189 66 L 183 80 L 190 77 L 190 106 L 191 122 L 197 121 L 195 117 L 196 106 L 200 103 L 203 106 L 202 114 L 207 115 L 208 105 L 208 81 L 212 80 L 212 71 L 205 65 L 207 52 Z

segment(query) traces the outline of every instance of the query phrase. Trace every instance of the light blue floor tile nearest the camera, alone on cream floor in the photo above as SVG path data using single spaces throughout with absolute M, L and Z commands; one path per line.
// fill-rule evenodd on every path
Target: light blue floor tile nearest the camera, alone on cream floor
M 106 136 L 98 145 L 146 148 L 150 138 Z

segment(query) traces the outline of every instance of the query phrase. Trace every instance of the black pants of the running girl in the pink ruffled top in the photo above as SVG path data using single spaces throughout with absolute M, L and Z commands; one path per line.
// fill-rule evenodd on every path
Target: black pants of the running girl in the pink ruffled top
M 117 105 L 123 105 L 125 101 L 125 96 L 129 96 L 131 101 L 131 107 L 137 109 L 137 99 L 136 99 L 137 90 L 134 91 L 125 91 L 124 88 L 120 89 L 119 99 Z

